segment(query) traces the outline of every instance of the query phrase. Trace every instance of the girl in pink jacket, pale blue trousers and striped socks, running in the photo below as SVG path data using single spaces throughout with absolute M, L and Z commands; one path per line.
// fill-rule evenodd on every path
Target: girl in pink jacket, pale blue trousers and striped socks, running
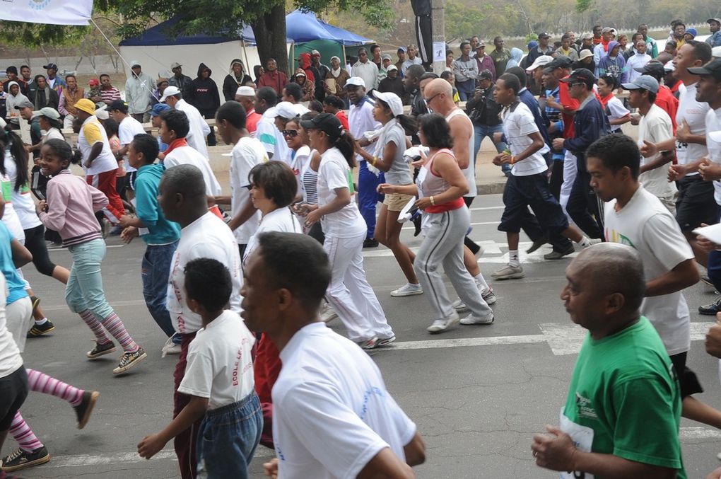
M 87 357 L 96 359 L 115 351 L 105 328 L 123 347 L 123 356 L 112 374 L 123 374 L 147 355 L 105 299 L 100 273 L 105 242 L 94 212 L 107 205 L 107 197 L 68 170 L 72 158 L 73 152 L 65 141 L 50 140 L 43 145 L 40 172 L 52 179 L 48 182 L 47 201 L 37 204 L 37 215 L 46 227 L 60 233 L 63 246 L 68 247 L 73 256 L 65 300 L 95 335 L 95 347 L 88 351 Z

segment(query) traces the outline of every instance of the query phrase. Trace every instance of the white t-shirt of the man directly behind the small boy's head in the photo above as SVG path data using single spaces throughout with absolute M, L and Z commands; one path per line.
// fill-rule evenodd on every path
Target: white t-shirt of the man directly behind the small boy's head
M 198 258 L 212 258 L 223 263 L 233 280 L 230 296 L 230 309 L 241 312 L 240 286 L 242 273 L 240 269 L 240 252 L 235 237 L 227 224 L 218 216 L 208 213 L 180 230 L 180 242 L 173 253 L 170 263 L 170 276 L 166 306 L 178 333 L 193 333 L 203 325 L 200 316 L 190 311 L 185 304 L 185 265 L 188 261 Z

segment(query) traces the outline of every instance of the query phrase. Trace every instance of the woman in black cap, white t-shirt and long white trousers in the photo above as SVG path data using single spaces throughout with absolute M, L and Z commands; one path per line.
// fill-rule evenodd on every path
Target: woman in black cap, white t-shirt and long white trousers
M 306 216 L 306 226 L 322 221 L 332 276 L 327 299 L 348 328 L 348 338 L 363 349 L 385 346 L 396 336 L 363 269 L 363 240 L 366 221 L 353 201 L 355 140 L 340 120 L 321 113 L 301 120 L 311 148 L 321 154 L 318 170 L 318 206 Z

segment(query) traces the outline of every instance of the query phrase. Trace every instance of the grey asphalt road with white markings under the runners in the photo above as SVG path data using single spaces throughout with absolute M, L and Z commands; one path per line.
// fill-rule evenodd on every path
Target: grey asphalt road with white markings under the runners
M 472 208 L 471 237 L 482 241 L 483 273 L 505 263 L 505 236 L 497 232 L 502 211 L 500 195 L 479 196 Z M 410 247 L 420 245 L 412 229 L 402 237 Z M 524 238 L 522 238 L 522 241 Z M 528 239 L 525 238 L 527 241 Z M 63 288 L 25 268 L 41 306 L 56 331 L 28 340 L 27 366 L 77 387 L 100 392 L 97 407 L 82 431 L 67 403 L 32 393 L 23 416 L 53 456 L 47 465 L 22 471 L 27 478 L 174 478 L 178 477 L 172 444 L 153 460 L 136 454 L 138 441 L 164 427 L 172 411 L 174 356 L 160 357 L 165 338 L 149 316 L 141 294 L 140 262 L 143 245 L 123 246 L 108 241 L 103 277 L 108 299 L 128 331 L 149 353 L 144 364 L 123 377 L 113 377 L 114 356 L 88 361 L 92 334 L 68 311 Z M 523 244 L 521 245 L 523 249 Z M 366 250 L 366 271 L 397 335 L 394 348 L 371 355 L 384 373 L 387 387 L 417 423 L 426 441 L 428 460 L 416 468 L 419 478 L 555 478 L 540 470 L 531 457 L 533 434 L 545 424 L 557 424 L 583 331 L 575 328 L 559 299 L 569 260 L 544 262 L 549 247 L 532 257 L 522 255 L 526 278 L 493 284 L 498 302 L 492 325 L 457 326 L 429 335 L 433 320 L 423 296 L 392 298 L 390 291 L 404 283 L 395 260 L 382 247 Z M 57 263 L 69 265 L 66 250 L 53 250 Z M 703 284 L 686 291 L 691 309 L 715 299 Z M 704 351 L 709 317 L 692 313 L 693 338 L 689 366 L 706 392 L 699 399 L 721 408 L 717 360 Z M 339 321 L 330 324 L 343 333 Z M 684 420 L 681 424 L 684 463 L 689 478 L 700 478 L 719 465 L 721 431 Z M 14 450 L 6 441 L 2 454 Z M 252 477 L 262 477 L 262 462 L 272 452 L 260 447 L 252 463 Z M 310 479 L 310 478 L 309 478 Z

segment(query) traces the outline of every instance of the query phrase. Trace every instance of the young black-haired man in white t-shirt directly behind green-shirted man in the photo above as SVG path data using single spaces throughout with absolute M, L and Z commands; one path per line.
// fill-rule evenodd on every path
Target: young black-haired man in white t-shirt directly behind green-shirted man
M 715 427 L 721 411 L 691 395 L 702 392 L 696 374 L 686 367 L 691 348 L 689 307 L 681 292 L 699 281 L 694 253 L 676 219 L 639 183 L 640 151 L 619 133 L 597 140 L 586 153 L 590 185 L 606 203 L 606 241 L 634 247 L 639 253 L 646 294 L 641 314 L 658 332 L 681 383 L 681 416 Z

